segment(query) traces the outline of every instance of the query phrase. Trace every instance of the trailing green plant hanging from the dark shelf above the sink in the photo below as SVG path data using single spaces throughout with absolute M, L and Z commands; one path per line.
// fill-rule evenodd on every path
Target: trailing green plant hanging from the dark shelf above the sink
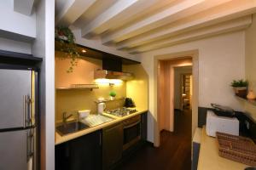
M 55 40 L 59 42 L 58 50 L 65 53 L 61 55 L 61 59 L 71 59 L 67 72 L 73 72 L 73 67 L 78 65 L 80 59 L 73 32 L 67 26 L 57 26 L 55 27 Z

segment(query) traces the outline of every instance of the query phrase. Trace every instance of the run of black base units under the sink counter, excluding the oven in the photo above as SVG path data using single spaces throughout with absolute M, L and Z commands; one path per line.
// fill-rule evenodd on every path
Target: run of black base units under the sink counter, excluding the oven
M 119 169 L 147 140 L 148 112 L 141 114 L 141 140 L 123 151 L 122 122 L 55 145 L 55 170 Z M 116 168 L 117 167 L 117 168 Z

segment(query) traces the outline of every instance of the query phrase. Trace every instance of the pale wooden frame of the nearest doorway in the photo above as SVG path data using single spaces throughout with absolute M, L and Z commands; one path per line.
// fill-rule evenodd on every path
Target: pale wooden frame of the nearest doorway
M 199 62 L 198 62 L 199 51 L 198 49 L 183 51 L 172 54 L 162 54 L 154 56 L 154 96 L 158 97 L 158 65 L 160 60 L 164 59 L 182 59 L 184 57 L 192 58 L 192 76 L 193 76 L 193 89 L 192 89 L 192 135 L 195 132 L 195 128 L 198 123 L 198 96 L 199 96 Z M 156 113 L 156 121 L 154 122 L 154 146 L 160 146 L 160 127 L 159 127 L 159 112 L 158 102 L 154 102 L 154 113 Z

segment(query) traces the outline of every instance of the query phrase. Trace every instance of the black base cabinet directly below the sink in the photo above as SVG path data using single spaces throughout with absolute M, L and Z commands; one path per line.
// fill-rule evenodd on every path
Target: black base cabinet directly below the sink
M 101 170 L 102 130 L 55 146 L 55 170 Z

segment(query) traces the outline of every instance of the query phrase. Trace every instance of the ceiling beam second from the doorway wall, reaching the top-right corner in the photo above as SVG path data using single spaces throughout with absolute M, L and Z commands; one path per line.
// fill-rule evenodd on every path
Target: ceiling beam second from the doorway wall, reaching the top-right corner
M 253 3 L 244 3 L 240 1 L 236 3 L 236 6 L 232 6 L 232 3 L 234 2 L 224 3 L 222 6 L 211 8 L 207 11 L 201 12 L 200 14 L 189 16 L 184 20 L 178 20 L 177 22 L 165 26 L 160 30 L 150 31 L 146 34 L 130 38 L 124 42 L 119 42 L 116 47 L 118 49 L 135 48 L 149 42 L 160 41 L 160 39 L 164 39 L 166 37 L 172 37 L 174 35 L 200 29 L 205 26 L 212 26 L 227 20 L 234 20 L 256 12 L 256 3 L 253 5 Z

